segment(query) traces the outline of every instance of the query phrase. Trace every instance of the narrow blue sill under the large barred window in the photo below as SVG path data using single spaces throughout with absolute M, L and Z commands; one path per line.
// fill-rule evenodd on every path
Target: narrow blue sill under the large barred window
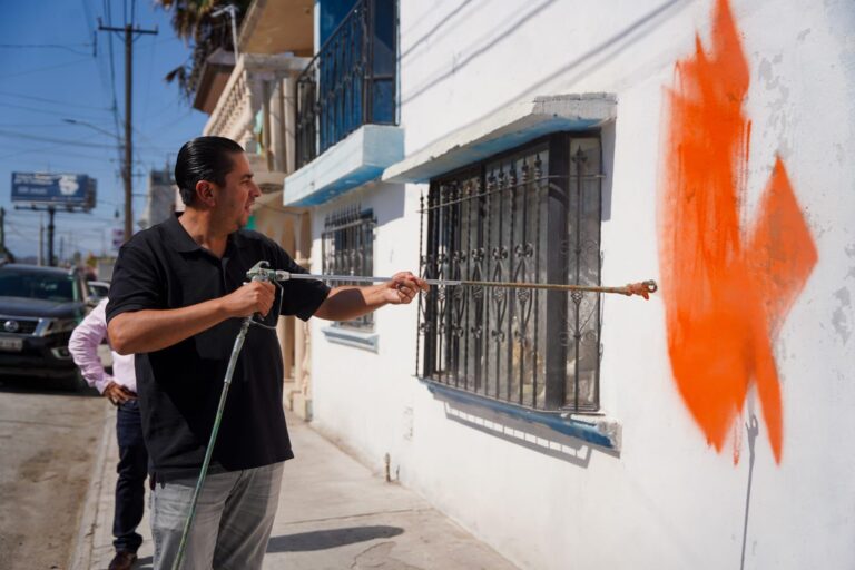
M 439 396 L 442 400 L 485 407 L 493 412 L 509 415 L 517 420 L 546 425 L 547 428 L 558 433 L 569 435 L 571 438 L 577 438 L 593 445 L 600 445 L 602 448 L 612 450 L 617 449 L 616 442 L 612 441 L 612 439 L 608 435 L 603 434 L 600 430 L 598 430 L 597 424 L 594 423 L 582 422 L 571 417 L 561 417 L 559 413 L 529 410 L 527 407 L 509 404 L 507 402 L 500 402 L 498 400 L 491 400 L 489 397 L 480 396 L 476 394 L 470 394 L 469 392 L 444 386 L 430 380 L 422 379 L 422 382 L 428 384 L 428 390 L 430 390 L 432 394 Z

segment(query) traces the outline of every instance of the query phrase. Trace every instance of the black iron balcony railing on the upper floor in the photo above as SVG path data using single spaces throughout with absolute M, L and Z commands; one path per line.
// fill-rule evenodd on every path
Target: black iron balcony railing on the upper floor
M 360 0 L 297 78 L 297 168 L 363 125 L 396 125 L 397 1 Z

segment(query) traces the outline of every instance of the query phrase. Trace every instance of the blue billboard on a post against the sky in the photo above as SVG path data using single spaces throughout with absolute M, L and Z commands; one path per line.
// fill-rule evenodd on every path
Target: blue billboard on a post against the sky
M 90 209 L 96 180 L 85 174 L 12 173 L 12 202 Z

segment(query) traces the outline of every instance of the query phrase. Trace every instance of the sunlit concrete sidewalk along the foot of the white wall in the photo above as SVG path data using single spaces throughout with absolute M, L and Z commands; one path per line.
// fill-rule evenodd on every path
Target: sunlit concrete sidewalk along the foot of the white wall
M 71 568 L 106 569 L 112 558 L 116 412 L 96 460 Z M 414 492 L 384 482 L 312 428 L 288 416 L 296 459 L 285 463 L 265 569 L 514 570 L 487 544 Z M 148 495 L 146 495 L 148 501 Z M 148 517 L 138 569 L 151 568 Z

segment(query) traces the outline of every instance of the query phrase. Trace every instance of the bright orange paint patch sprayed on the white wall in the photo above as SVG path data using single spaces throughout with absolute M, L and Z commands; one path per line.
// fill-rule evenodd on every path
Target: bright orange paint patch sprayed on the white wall
M 718 451 L 755 382 L 779 462 L 782 397 L 772 341 L 817 254 L 780 159 L 756 223 L 749 232 L 740 227 L 749 70 L 727 0 L 717 1 L 711 43 L 707 53 L 696 38 L 694 57 L 677 65 L 667 95 L 659 213 L 668 353 L 689 412 Z

